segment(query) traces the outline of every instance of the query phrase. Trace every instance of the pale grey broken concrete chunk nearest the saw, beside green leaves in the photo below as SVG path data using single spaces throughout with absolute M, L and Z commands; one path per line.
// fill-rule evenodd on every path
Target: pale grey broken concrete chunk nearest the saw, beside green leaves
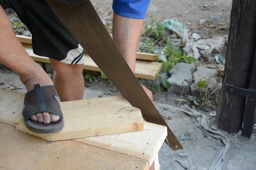
M 195 72 L 194 63 L 177 63 L 172 72 L 172 76 L 168 79 L 168 81 L 171 83 L 171 87 L 167 90 L 167 92 L 182 95 L 189 93 L 190 85 L 193 82 L 193 72 Z

